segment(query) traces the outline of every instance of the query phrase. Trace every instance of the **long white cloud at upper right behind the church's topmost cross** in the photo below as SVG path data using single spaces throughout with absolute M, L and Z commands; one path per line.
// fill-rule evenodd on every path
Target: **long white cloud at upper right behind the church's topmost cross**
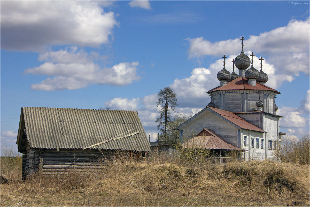
M 267 84 L 273 88 L 281 86 L 283 81 L 292 81 L 300 72 L 309 74 L 309 29 L 310 19 L 291 20 L 286 26 L 259 34 L 250 35 L 244 41 L 244 50 L 254 51 L 256 69 L 260 68 L 259 56 L 263 56 L 269 66 L 263 62 L 263 71 L 268 74 Z M 189 58 L 200 60 L 204 56 L 230 56 L 236 57 L 241 50 L 240 38 L 228 39 L 219 42 L 210 42 L 203 37 L 188 38 Z M 268 85 L 269 86 L 269 85 Z

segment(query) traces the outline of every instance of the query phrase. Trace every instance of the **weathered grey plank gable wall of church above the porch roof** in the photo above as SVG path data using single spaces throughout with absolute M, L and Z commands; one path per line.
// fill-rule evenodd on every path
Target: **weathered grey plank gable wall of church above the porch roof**
M 181 130 L 183 130 L 183 140 L 181 140 L 181 142 L 183 143 L 193 138 L 201 132 L 203 128 L 213 130 L 233 146 L 237 146 L 237 128 L 208 111 L 181 128 Z

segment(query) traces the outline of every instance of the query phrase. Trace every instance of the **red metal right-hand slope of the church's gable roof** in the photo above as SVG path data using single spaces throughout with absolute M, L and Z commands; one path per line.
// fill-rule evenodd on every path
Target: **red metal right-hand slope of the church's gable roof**
M 213 107 L 207 107 L 207 108 L 209 108 L 210 110 L 213 110 L 217 114 L 219 114 L 222 117 L 228 119 L 229 121 L 231 121 L 232 123 L 236 124 L 240 128 L 248 129 L 248 130 L 252 130 L 252 131 L 257 131 L 257 132 L 265 132 L 262 129 L 254 126 L 253 124 L 250 124 L 246 120 L 242 119 L 241 117 L 235 115 L 234 113 L 232 113 L 230 111 L 216 109 L 216 108 L 213 108 Z

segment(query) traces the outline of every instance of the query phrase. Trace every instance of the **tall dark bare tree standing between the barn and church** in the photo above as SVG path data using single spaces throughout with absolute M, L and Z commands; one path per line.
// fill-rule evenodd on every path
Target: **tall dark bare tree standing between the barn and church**
M 158 123 L 157 128 L 162 132 L 165 144 L 167 140 L 167 123 L 172 118 L 171 112 L 175 111 L 175 106 L 178 106 L 177 101 L 176 93 L 170 87 L 162 88 L 157 93 L 156 104 L 157 107 L 160 106 L 160 114 L 156 119 L 156 123 Z

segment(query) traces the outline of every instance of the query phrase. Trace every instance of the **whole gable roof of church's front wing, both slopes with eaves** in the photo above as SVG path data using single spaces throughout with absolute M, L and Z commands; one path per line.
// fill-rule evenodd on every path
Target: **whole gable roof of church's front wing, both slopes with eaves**
M 262 129 L 254 126 L 253 124 L 250 124 L 246 120 L 242 119 L 241 117 L 235 115 L 234 113 L 232 113 L 230 111 L 216 109 L 216 108 L 209 107 L 209 106 L 206 106 L 206 108 L 199 111 L 196 115 L 194 115 L 192 118 L 185 121 L 183 124 L 178 126 L 178 128 L 176 128 L 176 129 L 179 129 L 180 127 L 184 126 L 185 124 L 187 124 L 191 120 L 197 118 L 198 116 L 200 116 L 205 111 L 209 111 L 210 113 L 218 116 L 221 119 L 224 119 L 225 121 L 229 122 L 230 124 L 234 125 L 237 128 L 242 128 L 242 129 L 252 130 L 252 131 L 256 131 L 256 132 L 266 133 Z

